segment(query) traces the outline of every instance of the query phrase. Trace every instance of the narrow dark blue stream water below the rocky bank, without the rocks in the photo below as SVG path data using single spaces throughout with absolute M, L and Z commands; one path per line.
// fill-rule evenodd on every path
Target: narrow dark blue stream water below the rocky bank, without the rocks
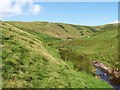
M 108 82 L 115 90 L 120 90 L 120 83 L 115 83 L 115 80 L 111 81 L 110 78 L 112 78 L 112 76 L 107 74 L 103 69 L 97 68 L 96 75 L 99 76 L 103 81 Z

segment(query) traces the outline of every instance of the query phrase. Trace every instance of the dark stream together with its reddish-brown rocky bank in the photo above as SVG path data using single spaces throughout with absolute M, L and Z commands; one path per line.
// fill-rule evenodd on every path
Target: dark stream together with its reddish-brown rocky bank
M 103 63 L 93 61 L 96 77 L 108 82 L 114 89 L 120 90 L 120 70 L 112 69 Z

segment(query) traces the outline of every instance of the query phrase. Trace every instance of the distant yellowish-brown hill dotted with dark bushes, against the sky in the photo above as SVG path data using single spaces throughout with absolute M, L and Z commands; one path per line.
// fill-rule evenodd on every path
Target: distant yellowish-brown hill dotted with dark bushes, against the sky
M 92 28 L 88 26 L 71 25 L 63 23 L 49 22 L 8 22 L 22 30 L 28 32 L 42 33 L 57 38 L 79 38 L 92 34 Z

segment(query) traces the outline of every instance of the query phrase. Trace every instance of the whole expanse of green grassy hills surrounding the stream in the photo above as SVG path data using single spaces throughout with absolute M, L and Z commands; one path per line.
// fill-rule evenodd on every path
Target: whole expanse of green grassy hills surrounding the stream
M 47 22 L 1 21 L 0 27 L 4 88 L 111 88 L 91 74 L 91 60 L 114 65 L 108 59 L 109 51 L 113 59 L 117 55 L 117 30 L 96 32 L 93 27 Z

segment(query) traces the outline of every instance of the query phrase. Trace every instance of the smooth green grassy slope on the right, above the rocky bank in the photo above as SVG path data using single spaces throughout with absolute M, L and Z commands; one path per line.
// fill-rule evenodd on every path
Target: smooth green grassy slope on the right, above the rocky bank
M 71 49 L 89 60 L 97 60 L 120 69 L 117 27 L 101 29 L 92 35 L 66 41 L 60 45 L 60 48 Z

